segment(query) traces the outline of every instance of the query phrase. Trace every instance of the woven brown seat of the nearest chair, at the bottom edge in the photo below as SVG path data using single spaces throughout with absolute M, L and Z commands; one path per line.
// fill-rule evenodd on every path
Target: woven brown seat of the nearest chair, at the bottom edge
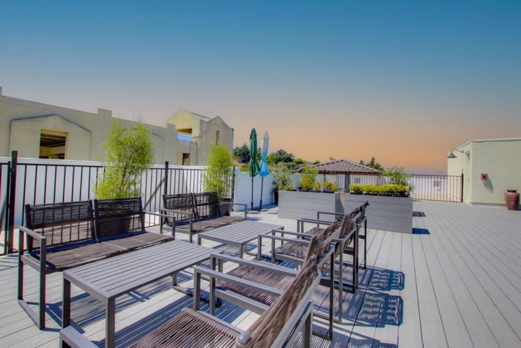
M 184 308 L 130 347 L 232 347 L 240 333 L 193 309 Z

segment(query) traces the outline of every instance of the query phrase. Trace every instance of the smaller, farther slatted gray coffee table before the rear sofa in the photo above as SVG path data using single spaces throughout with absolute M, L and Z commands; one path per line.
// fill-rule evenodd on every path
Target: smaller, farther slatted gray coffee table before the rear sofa
M 248 220 L 236 222 L 199 233 L 197 235 L 197 244 L 201 245 L 201 239 L 208 239 L 209 241 L 235 245 L 239 247 L 239 256 L 242 258 L 245 247 L 249 242 L 257 239 L 259 234 L 266 234 L 275 229 L 283 230 L 284 226 Z M 261 246 L 257 247 L 260 248 Z

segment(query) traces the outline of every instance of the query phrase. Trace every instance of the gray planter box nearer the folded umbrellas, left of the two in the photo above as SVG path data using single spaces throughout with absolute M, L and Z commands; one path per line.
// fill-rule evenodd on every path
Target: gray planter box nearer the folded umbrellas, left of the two
M 279 191 L 279 218 L 316 219 L 317 211 L 343 213 L 340 197 L 340 192 L 326 194 L 321 192 Z M 324 215 L 324 218 L 326 218 L 326 215 Z M 327 220 L 332 220 L 332 218 L 328 217 Z

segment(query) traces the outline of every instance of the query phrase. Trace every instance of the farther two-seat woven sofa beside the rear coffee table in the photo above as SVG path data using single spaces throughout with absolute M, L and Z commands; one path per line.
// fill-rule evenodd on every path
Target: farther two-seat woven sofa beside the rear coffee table
M 244 217 L 221 213 L 223 210 L 229 210 L 230 206 L 243 206 Z M 163 213 L 175 217 L 176 231 L 188 233 L 190 243 L 192 243 L 193 235 L 196 233 L 246 220 L 247 205 L 220 201 L 216 192 L 188 193 L 163 195 L 161 210 Z M 168 226 L 172 225 L 170 219 L 166 219 L 165 222 Z

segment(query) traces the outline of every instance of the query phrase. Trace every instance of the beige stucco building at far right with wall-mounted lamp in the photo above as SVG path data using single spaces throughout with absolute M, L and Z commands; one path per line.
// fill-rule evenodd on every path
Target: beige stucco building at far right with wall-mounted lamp
M 470 140 L 452 153 L 447 174 L 463 174 L 464 202 L 504 205 L 506 189 L 521 190 L 521 137 Z

